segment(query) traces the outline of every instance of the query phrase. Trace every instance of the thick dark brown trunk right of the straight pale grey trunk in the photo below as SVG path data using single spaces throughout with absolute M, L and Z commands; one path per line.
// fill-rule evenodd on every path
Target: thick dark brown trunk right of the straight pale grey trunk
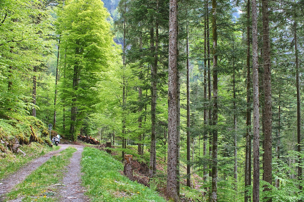
M 264 120 L 264 177 L 265 181 L 272 185 L 272 111 L 271 111 L 271 62 L 270 62 L 270 38 L 269 38 L 269 19 L 268 19 L 268 0 L 262 1 L 263 13 L 263 61 L 264 61 L 264 90 L 265 90 L 265 117 Z M 271 190 L 270 187 L 264 188 L 265 191 Z M 271 202 L 268 198 L 267 202 Z

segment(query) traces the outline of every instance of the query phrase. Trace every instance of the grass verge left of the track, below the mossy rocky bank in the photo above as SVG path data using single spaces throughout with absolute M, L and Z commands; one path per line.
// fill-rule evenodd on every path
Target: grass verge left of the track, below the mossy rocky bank
M 21 153 L 12 154 L 11 152 L 0 156 L 0 179 L 7 177 L 9 174 L 16 172 L 23 165 L 33 160 L 34 158 L 43 156 L 49 151 L 57 150 L 59 147 L 42 147 L 41 144 L 32 142 L 31 144 L 24 144 L 20 147 L 22 151 L 26 153 L 24 157 Z M 1 152 L 0 152 L 1 153 Z

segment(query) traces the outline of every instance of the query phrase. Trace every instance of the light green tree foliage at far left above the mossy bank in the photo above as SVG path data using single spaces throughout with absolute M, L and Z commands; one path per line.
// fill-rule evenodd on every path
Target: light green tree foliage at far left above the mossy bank
M 0 117 L 28 115 L 32 104 L 33 72 L 45 68 L 52 50 L 53 22 L 40 1 L 5 1 L 0 4 Z

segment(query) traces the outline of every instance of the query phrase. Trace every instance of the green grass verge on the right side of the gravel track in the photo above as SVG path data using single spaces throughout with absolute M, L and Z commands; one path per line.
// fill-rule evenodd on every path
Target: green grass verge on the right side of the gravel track
M 157 192 L 122 176 L 119 171 L 123 170 L 123 164 L 104 151 L 85 147 L 81 165 L 82 181 L 92 202 L 166 201 Z

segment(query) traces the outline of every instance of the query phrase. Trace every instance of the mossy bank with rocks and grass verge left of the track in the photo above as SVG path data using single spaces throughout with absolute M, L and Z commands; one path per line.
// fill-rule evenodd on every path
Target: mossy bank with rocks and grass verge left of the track
M 16 145 L 16 139 L 20 145 Z M 58 149 L 51 147 L 49 133 L 42 121 L 18 114 L 0 118 L 0 140 L 0 179 L 17 171 L 32 159 Z M 26 156 L 21 152 L 13 153 L 13 148 L 18 146 Z

